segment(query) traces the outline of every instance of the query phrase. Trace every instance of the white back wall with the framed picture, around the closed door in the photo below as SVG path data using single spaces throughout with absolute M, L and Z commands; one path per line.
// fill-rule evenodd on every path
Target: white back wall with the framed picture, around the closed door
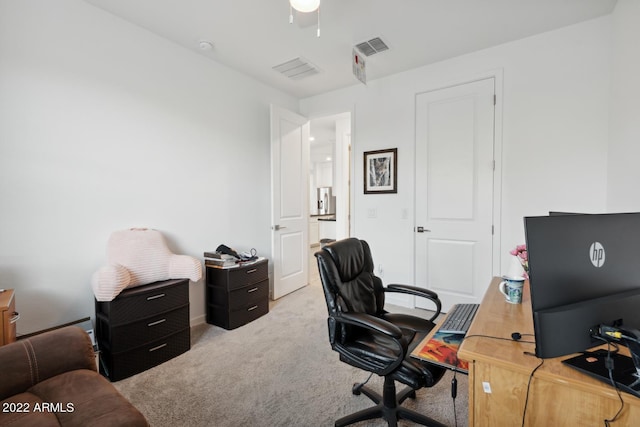
M 496 159 L 502 170 L 502 220 L 496 224 L 501 268 L 508 267 L 509 249 L 524 242 L 523 216 L 605 209 L 610 21 L 596 19 L 301 101 L 308 116 L 355 105 L 352 235 L 369 241 L 386 282 L 413 280 L 416 93 L 491 70 L 503 74 L 502 157 Z M 363 152 L 393 147 L 398 193 L 364 195 Z M 376 218 L 369 218 L 372 210 Z

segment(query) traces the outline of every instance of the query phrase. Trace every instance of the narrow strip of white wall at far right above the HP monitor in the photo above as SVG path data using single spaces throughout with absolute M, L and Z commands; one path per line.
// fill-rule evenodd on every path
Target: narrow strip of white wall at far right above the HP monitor
M 618 0 L 612 22 L 607 204 L 611 212 L 640 211 L 640 2 Z

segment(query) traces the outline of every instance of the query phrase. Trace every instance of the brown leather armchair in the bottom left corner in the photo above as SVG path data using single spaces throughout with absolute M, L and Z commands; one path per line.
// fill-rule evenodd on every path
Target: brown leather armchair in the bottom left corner
M 0 347 L 0 426 L 148 426 L 96 372 L 91 339 L 68 326 Z

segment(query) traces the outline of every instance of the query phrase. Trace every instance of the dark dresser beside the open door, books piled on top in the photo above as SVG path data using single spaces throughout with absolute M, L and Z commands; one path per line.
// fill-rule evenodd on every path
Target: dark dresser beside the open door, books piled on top
M 207 323 L 235 329 L 269 312 L 266 258 L 230 268 L 206 265 Z

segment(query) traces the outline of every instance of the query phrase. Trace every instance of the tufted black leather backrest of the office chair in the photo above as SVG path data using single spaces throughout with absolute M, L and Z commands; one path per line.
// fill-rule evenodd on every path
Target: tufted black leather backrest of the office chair
M 316 254 L 322 287 L 331 312 L 379 315 L 384 310 L 382 281 L 373 274 L 373 259 L 364 240 L 331 243 Z

